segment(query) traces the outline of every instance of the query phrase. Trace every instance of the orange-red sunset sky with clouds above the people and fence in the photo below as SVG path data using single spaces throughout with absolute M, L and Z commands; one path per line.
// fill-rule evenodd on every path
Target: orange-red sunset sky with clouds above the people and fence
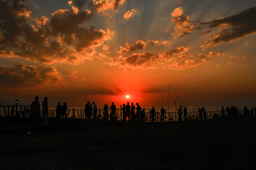
M 255 44 L 252 0 L 0 0 L 0 104 L 252 107 Z

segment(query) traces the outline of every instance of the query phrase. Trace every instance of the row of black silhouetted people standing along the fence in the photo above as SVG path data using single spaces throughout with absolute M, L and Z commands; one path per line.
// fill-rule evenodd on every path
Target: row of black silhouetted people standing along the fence
M 145 116 L 145 108 L 141 108 L 140 105 L 138 105 L 138 103 L 136 103 L 136 106 L 133 105 L 133 103 L 127 102 L 127 105 L 123 104 L 123 106 L 121 105 L 121 114 L 122 114 L 122 120 L 123 121 L 130 121 L 130 120 L 137 120 L 137 121 L 147 121 L 146 116 Z M 56 117 L 55 117 L 55 121 L 56 122 L 60 122 L 61 120 L 67 120 L 67 110 L 68 110 L 68 106 L 66 105 L 66 103 L 63 103 L 63 105 L 61 106 L 61 103 L 58 103 L 58 105 L 56 106 Z M 110 110 L 110 113 L 109 113 Z M 102 115 L 101 116 L 101 111 L 102 111 Z M 163 107 L 161 108 L 160 111 L 160 120 L 164 121 L 166 118 L 166 109 L 164 109 Z M 193 112 L 195 110 L 193 109 Z M 87 104 L 85 105 L 85 120 L 98 120 L 98 119 L 103 119 L 103 120 L 117 120 L 119 117 L 117 111 L 116 111 L 116 106 L 114 105 L 114 103 L 112 103 L 112 105 L 107 106 L 107 104 L 104 105 L 103 110 L 98 109 L 97 106 L 95 105 L 95 102 L 90 103 L 90 101 L 87 102 Z M 150 113 L 150 121 L 154 122 L 156 120 L 156 112 L 155 112 L 155 108 L 152 107 L 152 109 L 149 110 Z M 198 108 L 198 116 L 197 118 L 200 120 L 207 119 L 207 111 L 205 110 L 204 107 L 202 108 Z M 217 110 L 217 114 L 214 114 L 214 116 L 219 116 L 218 114 L 221 114 L 220 117 L 236 117 L 241 115 L 241 113 L 243 113 L 243 116 L 248 116 L 248 115 L 255 115 L 256 113 L 256 106 L 255 108 L 251 108 L 250 110 L 248 110 L 247 106 L 245 106 L 243 108 L 243 110 L 241 110 L 241 108 L 237 108 L 236 106 L 233 107 L 231 105 L 231 108 L 229 108 L 229 106 L 224 109 L 224 106 L 222 106 L 221 111 L 219 112 L 219 110 Z M 31 120 L 34 123 L 40 123 L 43 122 L 44 124 L 48 124 L 49 123 L 49 111 L 48 111 L 48 101 L 47 101 L 47 97 L 44 98 L 44 101 L 42 101 L 42 119 L 41 119 L 41 115 L 40 115 L 40 103 L 39 103 L 39 97 L 36 96 L 35 97 L 35 101 L 32 102 L 31 105 Z M 186 107 L 183 108 L 180 106 L 180 108 L 178 108 L 178 120 L 187 120 L 188 118 L 188 110 L 186 109 Z

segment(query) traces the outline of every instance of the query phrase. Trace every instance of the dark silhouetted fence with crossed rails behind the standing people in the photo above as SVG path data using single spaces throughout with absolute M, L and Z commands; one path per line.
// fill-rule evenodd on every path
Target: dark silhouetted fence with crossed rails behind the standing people
M 3 108 L 3 110 L 1 109 Z M 1 110 L 3 113 L 1 113 Z M 56 120 L 56 110 L 49 110 L 49 121 L 54 122 Z M 107 110 L 107 117 L 112 113 L 112 110 Z M 250 112 L 249 112 L 250 113 Z M 136 120 L 143 120 L 145 122 L 171 122 L 171 121 L 182 121 L 182 120 L 213 120 L 217 118 L 222 118 L 226 116 L 243 116 L 245 113 L 243 110 L 238 110 L 236 114 L 230 115 L 226 111 L 222 113 L 221 111 L 206 111 L 205 114 L 200 115 L 198 111 L 188 111 L 185 115 L 179 115 L 177 111 L 168 112 L 166 111 L 164 115 L 160 112 L 156 112 L 154 115 L 151 112 L 146 112 L 143 117 L 136 115 Z M 42 110 L 40 111 L 40 116 L 42 117 Z M 125 117 L 125 118 L 124 118 Z M 97 110 L 96 114 L 86 115 L 85 110 L 67 110 L 66 118 L 68 120 L 104 120 L 104 110 Z M 121 109 L 116 109 L 113 114 L 114 120 L 131 120 L 131 115 L 124 115 Z M 0 122 L 30 122 L 31 120 L 31 106 L 1 106 L 0 105 Z M 107 118 L 107 120 L 110 120 Z

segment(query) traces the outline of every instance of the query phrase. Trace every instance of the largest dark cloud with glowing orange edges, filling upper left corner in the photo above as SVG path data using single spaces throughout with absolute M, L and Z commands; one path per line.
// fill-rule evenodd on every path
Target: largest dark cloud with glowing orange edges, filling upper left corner
M 86 1 L 74 1 L 78 9 L 58 9 L 50 19 L 41 16 L 35 20 L 23 2 L 0 0 L 0 56 L 78 64 L 113 35 L 110 30 L 82 26 L 94 16 L 78 10 Z

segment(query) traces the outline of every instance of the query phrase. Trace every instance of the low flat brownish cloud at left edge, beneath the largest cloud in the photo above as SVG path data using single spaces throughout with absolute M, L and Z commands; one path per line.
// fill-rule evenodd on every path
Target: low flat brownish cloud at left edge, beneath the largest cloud
M 0 67 L 1 87 L 40 87 L 62 83 L 54 67 L 16 64 L 10 68 Z

